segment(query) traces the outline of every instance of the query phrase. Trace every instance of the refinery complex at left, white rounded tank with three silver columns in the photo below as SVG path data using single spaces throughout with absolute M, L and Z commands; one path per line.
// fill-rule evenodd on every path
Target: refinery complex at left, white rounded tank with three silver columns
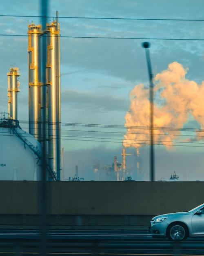
M 47 40 L 46 70 L 41 66 L 43 35 Z M 4 145 L 1 147 L 0 180 L 40 180 L 43 123 L 46 125 L 47 180 L 61 180 L 58 18 L 47 24 L 45 31 L 33 22 L 28 26 L 28 54 L 29 133 L 19 125 L 17 94 L 20 91 L 20 73 L 18 67 L 11 67 L 7 73 L 8 113 L 2 112 L 0 116 L 0 133 L 5 135 L 0 136 L 0 144 Z M 46 74 L 45 85 L 42 83 L 42 72 Z

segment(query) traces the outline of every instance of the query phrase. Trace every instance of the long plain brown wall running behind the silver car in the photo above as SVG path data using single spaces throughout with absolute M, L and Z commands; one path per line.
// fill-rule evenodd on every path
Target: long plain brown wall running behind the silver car
M 49 214 L 155 216 L 204 203 L 204 182 L 48 182 Z M 0 181 L 0 215 L 38 215 L 40 182 Z

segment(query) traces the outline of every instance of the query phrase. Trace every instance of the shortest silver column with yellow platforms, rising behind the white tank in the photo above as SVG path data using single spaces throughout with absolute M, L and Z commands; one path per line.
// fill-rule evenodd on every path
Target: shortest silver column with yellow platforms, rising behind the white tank
M 18 81 L 18 67 L 11 67 L 10 71 L 7 73 L 8 76 L 8 110 L 9 118 L 18 120 L 18 98 L 17 93 L 20 92 L 18 88 L 20 82 Z

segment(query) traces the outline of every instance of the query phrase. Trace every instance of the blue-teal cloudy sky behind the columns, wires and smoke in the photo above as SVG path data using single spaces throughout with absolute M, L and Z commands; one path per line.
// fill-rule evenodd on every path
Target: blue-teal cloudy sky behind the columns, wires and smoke
M 203 0 L 50 0 L 49 2 L 50 16 L 55 16 L 55 11 L 58 10 L 60 17 L 204 19 Z M 40 1 L 37 0 L 2 1 L 0 14 L 38 16 L 39 3 Z M 38 18 L 0 17 L 1 34 L 26 35 L 27 26 L 32 21 L 36 24 L 40 22 Z M 204 38 L 204 22 L 201 21 L 59 18 L 59 22 L 61 36 Z M 131 90 L 141 83 L 149 86 L 145 52 L 141 47 L 143 41 L 61 38 L 62 122 L 124 126 L 125 116 L 131 104 L 129 97 Z M 202 83 L 204 41 L 149 40 L 149 42 L 154 75 L 166 70 L 170 63 L 178 62 L 188 70 L 186 79 L 198 84 Z M 21 74 L 18 119 L 28 120 L 27 37 L 1 36 L 0 54 L 2 60 L 0 110 L 7 111 L 6 74 L 10 67 L 18 66 Z M 191 120 L 184 125 L 194 128 L 195 122 Z M 22 127 L 26 129 L 24 125 Z M 62 126 L 64 136 L 62 146 L 65 151 L 64 178 L 74 174 L 75 165 L 79 166 L 79 175 L 85 180 L 90 180 L 94 179 L 93 162 L 112 164 L 114 156 L 117 156 L 118 161 L 121 162 L 122 139 L 125 133 L 125 128 Z M 88 138 L 77 138 L 77 136 Z M 83 139 L 86 141 L 81 141 Z M 87 140 L 117 141 L 117 143 Z M 135 149 L 129 148 L 128 151 L 132 153 Z M 189 146 L 174 147 L 171 150 L 164 146 L 155 147 L 156 178 L 170 176 L 176 171 L 180 180 L 204 180 L 203 151 L 202 148 Z M 135 155 L 127 157 L 127 166 L 132 170 L 133 178 L 149 180 L 148 146 L 141 148 L 140 162 L 143 166 L 142 173 L 135 171 Z

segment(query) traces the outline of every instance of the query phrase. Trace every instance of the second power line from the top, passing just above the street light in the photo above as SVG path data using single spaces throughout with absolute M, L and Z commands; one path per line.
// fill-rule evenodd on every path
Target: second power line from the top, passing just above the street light
M 22 35 L 22 34 L 0 34 L 0 36 L 28 37 L 28 35 Z M 144 38 L 144 37 L 110 37 L 110 36 L 59 36 L 59 37 L 60 38 L 84 38 L 84 39 L 87 38 L 87 39 L 124 39 L 124 40 L 204 41 L 204 38 Z

